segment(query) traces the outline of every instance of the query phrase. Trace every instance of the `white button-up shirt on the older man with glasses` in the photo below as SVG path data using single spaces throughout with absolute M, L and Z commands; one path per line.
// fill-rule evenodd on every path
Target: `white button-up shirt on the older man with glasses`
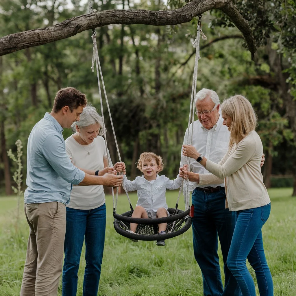
M 189 140 L 192 133 L 192 123 L 189 126 Z M 188 128 L 185 132 L 184 136 L 184 142 L 183 144 L 187 144 L 187 133 Z M 223 126 L 223 118 L 221 116 L 221 113 L 219 114 L 219 119 L 217 123 L 211 128 L 210 130 L 207 130 L 202 126 L 199 120 L 194 121 L 193 123 L 193 136 L 192 136 L 192 146 L 195 147 L 195 149 L 202 153 L 204 157 L 207 159 L 213 161 L 214 163 L 218 163 L 222 157 L 226 154 L 228 149 L 228 142 L 229 142 L 230 132 L 228 131 L 228 128 L 226 126 Z M 190 143 L 189 143 L 190 144 Z M 181 162 L 180 166 L 185 164 L 185 156 L 182 155 L 181 152 Z M 208 170 L 206 170 L 200 163 L 198 163 L 193 158 L 190 158 L 190 166 L 191 170 L 194 173 L 198 174 L 206 174 L 209 173 Z M 224 183 L 221 180 L 220 184 L 211 184 L 211 185 L 200 185 L 196 182 L 190 182 L 189 181 L 189 190 L 192 191 L 195 187 L 217 187 L 217 186 L 223 186 Z

